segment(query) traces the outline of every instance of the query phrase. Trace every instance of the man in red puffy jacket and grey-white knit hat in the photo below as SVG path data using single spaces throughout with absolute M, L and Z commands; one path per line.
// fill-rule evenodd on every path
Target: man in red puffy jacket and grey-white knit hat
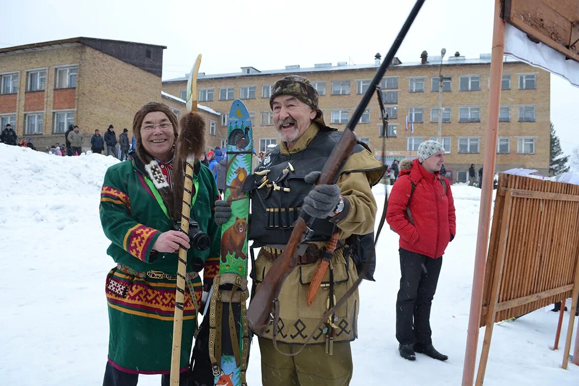
M 445 150 L 437 141 L 418 146 L 418 159 L 400 163 L 390 192 L 386 221 L 400 235 L 400 291 L 396 301 L 396 339 L 402 358 L 415 352 L 446 361 L 432 344 L 430 307 L 442 255 L 455 237 L 455 205 L 450 182 L 440 175 Z

